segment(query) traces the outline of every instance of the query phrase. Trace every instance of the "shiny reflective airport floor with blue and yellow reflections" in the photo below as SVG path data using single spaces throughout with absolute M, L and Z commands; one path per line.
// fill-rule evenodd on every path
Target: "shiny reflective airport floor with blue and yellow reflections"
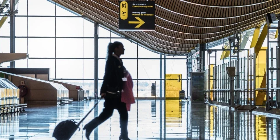
M 81 128 L 99 115 L 99 103 Z M 95 101 L 73 102 L 60 106 L 29 106 L 26 112 L 0 116 L 0 139 L 52 139 L 54 127 L 62 120 L 76 121 L 90 110 Z M 211 105 L 174 100 L 138 100 L 129 112 L 131 139 L 280 139 L 280 119 L 248 112 L 231 111 Z M 91 139 L 114 140 L 120 134 L 118 111 L 91 134 Z M 72 140 L 84 139 L 76 131 Z

